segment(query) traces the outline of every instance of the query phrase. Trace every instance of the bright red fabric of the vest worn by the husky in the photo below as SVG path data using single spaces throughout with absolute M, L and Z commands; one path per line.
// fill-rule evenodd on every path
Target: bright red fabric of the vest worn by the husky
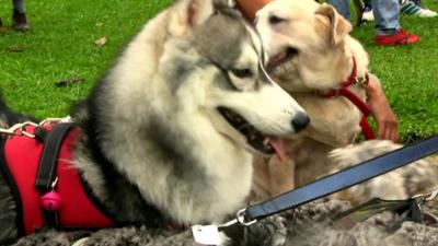
M 27 131 L 33 131 L 27 127 Z M 55 190 L 61 198 L 59 218 L 61 227 L 112 227 L 115 224 L 89 200 L 78 171 L 70 164 L 72 144 L 80 133 L 70 131 L 62 141 L 57 166 L 58 183 Z M 36 139 L 13 136 L 5 141 L 5 161 L 20 191 L 25 234 L 43 227 L 39 194 L 34 184 L 43 144 Z

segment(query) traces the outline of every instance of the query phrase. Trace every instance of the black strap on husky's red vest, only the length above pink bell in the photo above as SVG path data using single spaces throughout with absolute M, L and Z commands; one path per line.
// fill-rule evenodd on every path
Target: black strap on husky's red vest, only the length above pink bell
M 35 133 L 43 139 L 43 153 L 39 159 L 38 174 L 36 176 L 35 187 L 41 192 L 46 192 L 51 189 L 51 183 L 56 176 L 56 164 L 58 161 L 59 151 L 65 136 L 73 128 L 73 122 L 56 124 L 50 131 L 42 131 L 43 128 L 35 129 Z M 45 133 L 43 133 L 45 132 Z

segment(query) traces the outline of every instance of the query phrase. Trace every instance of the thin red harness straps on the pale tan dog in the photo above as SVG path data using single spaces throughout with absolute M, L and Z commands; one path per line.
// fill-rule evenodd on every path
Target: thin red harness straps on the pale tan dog
M 331 89 L 325 92 L 316 91 L 315 93 L 323 97 L 336 97 L 336 96 L 345 96 L 349 102 L 351 102 L 362 113 L 362 118 L 360 119 L 360 128 L 362 129 L 362 133 L 366 140 L 374 139 L 374 133 L 367 120 L 367 117 L 370 115 L 371 109 L 360 97 L 358 97 L 355 93 L 348 90 L 348 87 L 353 84 L 358 84 L 359 86 L 367 86 L 369 82 L 368 74 L 365 78 L 357 78 L 357 65 L 356 59 L 353 57 L 353 71 L 347 78 L 346 81 L 342 82 L 337 89 Z

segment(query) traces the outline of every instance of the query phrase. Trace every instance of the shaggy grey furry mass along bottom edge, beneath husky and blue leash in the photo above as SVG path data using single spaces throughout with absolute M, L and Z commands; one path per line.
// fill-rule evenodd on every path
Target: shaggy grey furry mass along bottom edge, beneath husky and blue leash
M 405 221 L 396 226 L 400 215 L 383 212 L 356 224 L 350 230 L 332 225 L 334 215 L 350 204 L 338 200 L 320 200 L 262 220 L 254 225 L 227 232 L 233 245 L 263 246 L 436 246 L 438 226 Z M 429 213 L 438 209 L 424 207 Z M 81 239 L 82 238 L 82 239 Z M 76 244 L 74 244 L 76 243 Z M 146 227 L 105 229 L 96 232 L 59 232 L 46 230 L 20 239 L 20 246 L 188 246 L 197 245 L 189 230 L 150 230 Z

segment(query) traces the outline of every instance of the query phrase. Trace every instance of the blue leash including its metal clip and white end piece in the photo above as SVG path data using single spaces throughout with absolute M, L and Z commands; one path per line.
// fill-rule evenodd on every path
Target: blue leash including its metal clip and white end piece
M 217 224 L 193 225 L 192 233 L 195 242 L 201 245 L 219 245 L 220 244 L 219 231 L 223 232 L 228 231 L 228 233 L 231 234 L 232 233 L 239 234 L 239 231 L 244 227 L 235 225 L 249 226 L 251 224 L 256 223 L 258 220 L 262 220 L 264 218 L 267 218 L 269 215 L 279 213 L 288 209 L 297 208 L 301 204 L 325 197 L 342 189 L 346 189 L 359 183 L 385 174 L 390 171 L 405 166 L 414 161 L 417 161 L 422 157 L 426 157 L 435 152 L 438 152 L 438 134 L 429 139 L 414 143 L 412 145 L 406 145 L 395 151 L 383 154 L 381 156 L 368 160 L 358 165 L 345 168 L 335 174 L 325 176 L 313 183 L 293 189 L 289 192 L 283 194 L 270 200 L 249 206 L 240 210 L 237 213 L 235 219 L 227 223 L 219 225 Z M 436 196 L 437 195 L 434 195 L 431 197 Z M 384 201 L 382 202 L 384 203 Z M 402 203 L 397 202 L 397 204 L 392 206 L 391 208 L 392 209 L 395 207 L 399 208 L 400 204 L 404 206 L 404 203 L 406 202 Z M 388 207 L 387 203 L 383 206 Z M 417 210 L 413 209 L 412 212 L 415 213 L 414 216 L 419 216 Z M 337 224 L 344 226 L 346 223 L 343 223 L 343 221 L 345 220 L 348 222 L 350 218 L 338 218 Z

